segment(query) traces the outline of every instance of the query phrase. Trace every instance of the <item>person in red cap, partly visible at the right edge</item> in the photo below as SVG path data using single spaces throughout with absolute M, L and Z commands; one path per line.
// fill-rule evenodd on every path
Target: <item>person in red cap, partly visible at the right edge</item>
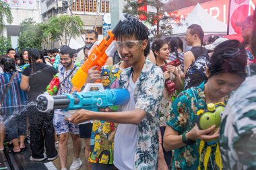
M 242 28 L 242 35 L 243 35 L 243 40 L 245 44 L 245 50 L 247 51 L 247 56 L 248 56 L 248 64 L 256 63 L 256 58 L 253 56 L 251 52 L 251 46 L 250 46 L 250 40 L 251 40 L 251 35 L 253 32 L 252 28 L 253 24 L 253 15 L 249 15 L 246 17 L 246 19 L 243 22 L 236 22 L 236 26 Z

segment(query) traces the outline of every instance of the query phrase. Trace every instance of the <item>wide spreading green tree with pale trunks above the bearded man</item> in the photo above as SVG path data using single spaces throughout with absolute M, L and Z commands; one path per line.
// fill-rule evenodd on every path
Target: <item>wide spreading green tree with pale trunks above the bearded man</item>
M 44 42 L 48 38 L 53 41 L 59 40 L 61 45 L 69 45 L 70 39 L 79 36 L 83 29 L 84 22 L 78 16 L 60 15 L 51 17 L 47 22 L 40 24 L 40 30 Z

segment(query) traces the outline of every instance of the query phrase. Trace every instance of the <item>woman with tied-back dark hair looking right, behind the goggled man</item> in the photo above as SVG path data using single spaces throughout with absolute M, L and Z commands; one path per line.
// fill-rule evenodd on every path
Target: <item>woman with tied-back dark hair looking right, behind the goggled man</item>
M 170 62 L 168 60 L 169 54 L 170 54 L 170 48 L 168 46 L 168 43 L 165 42 L 164 40 L 160 40 L 160 39 L 154 40 L 154 42 L 152 43 L 152 51 L 156 58 L 156 65 L 161 67 L 165 65 L 167 62 Z M 181 77 L 179 76 L 177 68 L 172 65 L 169 65 L 166 69 L 167 71 L 164 72 L 164 78 L 172 79 L 172 81 L 175 81 L 177 89 L 181 89 L 182 82 L 181 82 Z M 173 94 L 167 91 L 166 88 L 164 89 L 164 96 L 162 97 L 162 101 L 160 104 L 161 105 L 160 106 L 160 131 L 161 131 L 160 141 L 162 140 L 161 134 L 164 134 L 164 130 L 166 126 L 166 118 L 170 115 L 172 95 Z M 159 154 L 158 169 L 168 169 L 170 165 L 171 152 L 164 151 L 162 149 L 161 144 L 160 144 L 160 152 L 159 152 L 160 154 Z

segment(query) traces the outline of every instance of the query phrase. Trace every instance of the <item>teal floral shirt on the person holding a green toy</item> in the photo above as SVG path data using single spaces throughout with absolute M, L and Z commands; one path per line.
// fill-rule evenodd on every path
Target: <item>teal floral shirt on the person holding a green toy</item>
M 191 130 L 197 122 L 197 112 L 206 108 L 204 84 L 203 82 L 198 87 L 182 91 L 172 103 L 170 118 L 168 118 L 166 124 L 179 132 L 179 135 Z M 227 97 L 225 98 L 226 100 Z M 173 152 L 172 169 L 195 170 L 199 165 L 201 169 L 204 169 L 199 161 L 199 144 L 200 140 L 197 140 L 195 144 L 175 149 Z M 204 150 L 205 148 L 203 148 Z M 214 152 L 212 152 L 211 157 L 215 158 Z

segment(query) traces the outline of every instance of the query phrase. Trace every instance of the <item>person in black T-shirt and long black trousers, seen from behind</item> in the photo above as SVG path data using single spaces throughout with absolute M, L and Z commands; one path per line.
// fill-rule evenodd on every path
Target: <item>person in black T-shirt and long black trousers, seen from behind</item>
M 30 50 L 30 66 L 27 67 L 22 77 L 21 87 L 28 91 L 28 101 L 36 101 L 36 97 L 46 90 L 56 70 L 45 64 L 44 57 L 36 49 Z M 53 128 L 53 112 L 42 113 L 36 106 L 28 108 L 28 118 L 30 122 L 30 148 L 32 156 L 30 161 L 43 161 L 44 144 L 48 161 L 57 158 L 58 153 L 55 149 L 55 137 Z

